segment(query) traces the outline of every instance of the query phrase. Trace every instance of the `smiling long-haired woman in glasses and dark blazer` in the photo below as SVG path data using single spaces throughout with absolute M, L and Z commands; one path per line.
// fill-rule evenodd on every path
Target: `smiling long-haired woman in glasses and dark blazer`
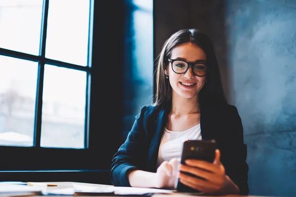
M 242 122 L 225 99 L 209 37 L 197 29 L 174 33 L 163 45 L 156 71 L 155 101 L 141 108 L 113 156 L 112 184 L 174 188 L 178 176 L 185 186 L 205 194 L 248 195 Z M 186 139 L 215 139 L 214 162 L 189 160 L 176 173 Z

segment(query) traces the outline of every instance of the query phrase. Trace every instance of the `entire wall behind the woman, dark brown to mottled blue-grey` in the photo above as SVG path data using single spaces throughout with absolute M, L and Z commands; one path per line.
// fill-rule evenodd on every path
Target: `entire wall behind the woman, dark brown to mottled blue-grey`
M 250 195 L 296 196 L 296 0 L 154 0 L 154 58 L 171 33 L 209 34 L 241 115 Z

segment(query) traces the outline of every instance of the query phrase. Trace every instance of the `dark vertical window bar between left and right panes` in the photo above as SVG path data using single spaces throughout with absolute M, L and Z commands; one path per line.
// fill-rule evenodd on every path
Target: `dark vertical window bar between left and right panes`
M 43 96 L 43 77 L 44 77 L 44 64 L 45 64 L 45 44 L 47 33 L 47 17 L 48 17 L 48 3 L 49 0 L 43 0 L 42 10 L 42 24 L 40 33 L 40 47 L 39 56 L 40 61 L 38 64 L 38 77 L 37 77 L 37 95 L 35 107 L 35 131 L 34 131 L 34 146 L 40 147 L 41 137 L 41 115 L 42 115 L 42 96 Z

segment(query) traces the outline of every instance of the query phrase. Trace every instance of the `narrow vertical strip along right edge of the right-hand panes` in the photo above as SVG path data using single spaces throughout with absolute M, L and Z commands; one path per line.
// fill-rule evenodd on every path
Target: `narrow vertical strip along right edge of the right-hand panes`
M 93 14 L 94 0 L 89 3 L 89 21 L 88 21 L 88 53 L 87 53 L 87 67 L 90 68 L 92 62 L 92 37 L 93 37 Z M 86 73 L 86 95 L 85 95 L 85 122 L 84 122 L 84 147 L 89 148 L 89 112 L 90 112 L 90 82 L 91 72 Z

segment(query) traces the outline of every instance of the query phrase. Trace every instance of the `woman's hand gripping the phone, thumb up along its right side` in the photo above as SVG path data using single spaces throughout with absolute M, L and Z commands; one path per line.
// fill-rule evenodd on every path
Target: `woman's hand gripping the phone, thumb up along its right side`
M 234 184 L 228 176 L 225 175 L 225 169 L 220 162 L 221 152 L 216 150 L 216 156 L 213 163 L 209 163 L 201 160 L 186 160 L 185 164 L 180 165 L 180 181 L 195 190 L 204 192 L 205 194 L 214 195 L 226 195 L 238 193 L 237 191 L 228 191 L 228 185 Z M 186 175 L 182 172 L 188 172 L 190 174 L 204 178 L 196 178 L 193 176 Z M 239 191 L 238 187 L 234 184 L 233 187 L 229 189 L 236 189 Z

